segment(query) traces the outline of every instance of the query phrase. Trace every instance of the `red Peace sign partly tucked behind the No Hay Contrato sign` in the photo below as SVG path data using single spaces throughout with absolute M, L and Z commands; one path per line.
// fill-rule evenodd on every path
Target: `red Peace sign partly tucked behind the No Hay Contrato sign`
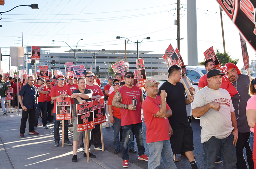
M 94 125 L 104 123 L 107 121 L 105 115 L 105 102 L 104 99 L 100 99 L 100 103 L 93 100 L 93 115 L 94 115 Z

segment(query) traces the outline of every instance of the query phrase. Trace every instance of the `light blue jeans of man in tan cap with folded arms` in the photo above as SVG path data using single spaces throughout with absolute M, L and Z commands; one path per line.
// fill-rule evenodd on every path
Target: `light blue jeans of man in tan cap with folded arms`
M 164 167 L 169 169 L 177 169 L 174 164 L 174 156 L 169 140 L 148 143 L 149 157 L 148 157 L 148 169 L 158 168 L 163 159 Z

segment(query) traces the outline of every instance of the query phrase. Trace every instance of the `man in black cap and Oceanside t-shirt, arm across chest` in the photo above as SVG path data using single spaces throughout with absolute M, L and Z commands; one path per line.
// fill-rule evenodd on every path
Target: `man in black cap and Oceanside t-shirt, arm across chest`
M 192 105 L 192 114 L 200 117 L 202 127 L 204 169 L 215 167 L 219 152 L 224 168 L 236 169 L 238 129 L 231 97 L 228 91 L 220 88 L 223 75 L 220 70 L 210 70 L 207 73 L 208 86 L 196 93 Z

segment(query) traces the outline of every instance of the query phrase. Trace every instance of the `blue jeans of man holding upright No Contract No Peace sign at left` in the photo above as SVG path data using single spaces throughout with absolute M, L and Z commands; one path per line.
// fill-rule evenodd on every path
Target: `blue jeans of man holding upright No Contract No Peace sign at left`
M 53 113 L 53 119 L 54 119 L 54 142 L 60 143 L 60 121 L 56 120 L 56 113 Z M 69 141 L 68 139 L 68 120 L 64 120 L 64 143 L 67 143 Z M 63 132 L 63 131 L 62 131 Z

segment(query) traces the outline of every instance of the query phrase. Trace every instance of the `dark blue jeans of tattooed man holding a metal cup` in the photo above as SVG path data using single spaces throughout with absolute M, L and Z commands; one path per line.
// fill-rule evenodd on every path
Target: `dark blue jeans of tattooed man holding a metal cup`
M 145 148 L 144 148 L 143 139 L 142 139 L 142 123 L 130 124 L 122 127 L 123 127 L 123 136 L 122 136 L 122 144 L 121 144 L 121 152 L 123 155 L 122 159 L 129 160 L 129 155 L 127 154 L 128 141 L 130 139 L 132 128 L 134 130 L 134 135 L 137 142 L 139 156 L 142 156 L 145 153 Z

